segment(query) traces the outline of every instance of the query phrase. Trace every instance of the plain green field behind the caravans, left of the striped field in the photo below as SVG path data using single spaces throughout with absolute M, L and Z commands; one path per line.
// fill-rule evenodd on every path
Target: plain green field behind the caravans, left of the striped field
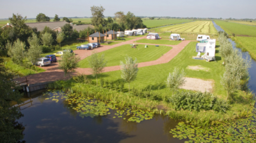
M 191 22 L 190 19 L 143 19 L 143 24 L 146 25 L 147 28 L 156 28 L 159 26 L 170 25 L 170 24 L 177 24 L 177 23 L 184 23 L 184 22 Z

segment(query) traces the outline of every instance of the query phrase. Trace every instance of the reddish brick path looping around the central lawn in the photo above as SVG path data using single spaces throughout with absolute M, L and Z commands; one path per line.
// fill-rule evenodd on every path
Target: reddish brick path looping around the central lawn
M 125 45 L 125 44 L 133 44 L 136 40 L 144 39 L 144 37 L 138 37 L 135 39 L 128 40 L 126 42 L 121 42 L 114 45 L 104 45 L 97 49 L 95 49 L 97 52 L 103 52 L 109 49 L 112 49 L 117 46 Z M 170 62 L 172 58 L 174 58 L 180 51 L 184 49 L 184 47 L 190 42 L 190 40 L 182 41 L 178 45 L 165 45 L 165 46 L 171 46 L 172 49 L 165 53 L 162 57 L 160 57 L 157 60 L 152 60 L 149 62 L 143 62 L 139 63 L 138 67 L 144 67 L 144 66 L 150 66 L 150 65 L 157 65 L 157 64 L 164 64 Z M 136 43 L 136 44 L 146 44 L 146 43 Z M 162 45 L 162 44 L 147 44 L 147 45 Z M 81 59 L 84 59 L 88 56 L 92 55 L 92 52 L 89 50 L 75 50 L 74 51 L 76 56 L 79 56 Z M 59 60 L 59 58 L 57 58 Z M 62 79 L 68 79 L 68 76 L 64 77 L 64 72 L 59 69 L 58 63 L 52 63 L 49 66 L 41 67 L 42 69 L 46 70 L 45 72 L 37 73 L 37 74 L 31 74 L 27 76 L 28 84 L 36 84 L 36 83 L 44 83 L 47 81 L 55 81 L 55 80 L 62 80 Z M 109 71 L 117 71 L 120 70 L 120 66 L 109 66 L 104 68 L 104 72 Z M 89 68 L 78 68 L 75 70 L 76 72 L 72 73 L 73 75 L 76 74 L 91 74 L 91 70 Z M 16 80 L 23 80 L 23 79 L 16 79 Z

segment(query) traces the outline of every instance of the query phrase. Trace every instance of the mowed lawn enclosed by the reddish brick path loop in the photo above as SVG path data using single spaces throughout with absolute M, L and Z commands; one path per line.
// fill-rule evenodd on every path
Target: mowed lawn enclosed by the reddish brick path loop
M 100 52 L 99 55 L 104 54 L 107 61 L 106 66 L 120 65 L 120 61 L 125 62 L 125 57 L 130 56 L 133 59 L 137 58 L 138 63 L 148 62 L 151 60 L 156 60 L 162 56 L 162 54 L 170 51 L 172 47 L 170 46 L 159 46 L 138 44 L 137 48 L 131 48 L 130 44 L 114 47 L 113 49 Z M 79 62 L 79 67 L 86 68 L 89 67 L 88 58 L 82 59 Z

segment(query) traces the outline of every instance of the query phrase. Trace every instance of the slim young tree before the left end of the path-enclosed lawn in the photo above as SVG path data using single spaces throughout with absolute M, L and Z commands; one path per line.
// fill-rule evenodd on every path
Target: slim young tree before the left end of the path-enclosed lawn
M 89 66 L 91 67 L 91 72 L 94 77 L 96 77 L 96 85 L 98 86 L 98 74 L 103 72 L 106 66 L 104 54 L 99 56 L 99 53 L 94 51 L 88 58 Z

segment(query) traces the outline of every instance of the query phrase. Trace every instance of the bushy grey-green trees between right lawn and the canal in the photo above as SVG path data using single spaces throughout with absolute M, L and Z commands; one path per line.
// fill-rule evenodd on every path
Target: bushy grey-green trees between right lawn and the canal
M 243 59 L 242 53 L 233 49 L 232 44 L 227 39 L 227 33 L 220 32 L 219 43 L 220 55 L 225 58 L 226 69 L 221 77 L 221 84 L 228 93 L 228 99 L 233 92 L 241 88 L 241 84 L 246 84 L 249 80 L 248 69 L 251 67 L 251 59 Z

